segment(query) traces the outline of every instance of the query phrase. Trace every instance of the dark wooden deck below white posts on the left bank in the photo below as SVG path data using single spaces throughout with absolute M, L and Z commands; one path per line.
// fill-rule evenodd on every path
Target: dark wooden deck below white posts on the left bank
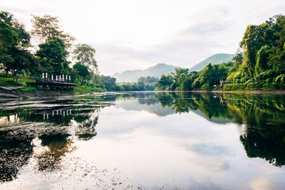
M 38 86 L 41 86 L 42 88 L 47 88 L 48 90 L 51 88 L 55 89 L 73 89 L 77 84 L 74 83 L 68 83 L 65 81 L 60 81 L 60 80 L 36 80 L 36 82 L 33 83 L 26 83 L 27 86 L 31 85 L 36 88 Z

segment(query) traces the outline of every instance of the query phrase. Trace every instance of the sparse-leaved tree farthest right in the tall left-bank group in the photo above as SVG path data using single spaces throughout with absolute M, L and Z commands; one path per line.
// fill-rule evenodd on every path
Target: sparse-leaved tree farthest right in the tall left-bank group
M 73 58 L 82 65 L 86 65 L 90 70 L 98 73 L 98 65 L 95 60 L 95 49 L 86 43 L 79 43 L 73 51 Z

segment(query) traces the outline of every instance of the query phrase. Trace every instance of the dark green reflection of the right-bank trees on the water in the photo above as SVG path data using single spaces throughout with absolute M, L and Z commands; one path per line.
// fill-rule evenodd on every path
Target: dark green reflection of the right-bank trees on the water
M 245 124 L 247 130 L 240 140 L 247 155 L 278 167 L 285 165 L 284 95 L 157 93 L 155 98 L 175 112 L 199 110 L 212 122 L 227 119 Z

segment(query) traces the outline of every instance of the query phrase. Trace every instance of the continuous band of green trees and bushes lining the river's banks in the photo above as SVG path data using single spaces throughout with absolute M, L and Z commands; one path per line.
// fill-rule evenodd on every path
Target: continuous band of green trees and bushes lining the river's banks
M 215 65 L 209 63 L 199 71 L 175 68 L 175 73 L 162 74 L 160 78 L 145 76 L 135 83 L 116 83 L 115 78 L 100 75 L 95 48 L 86 43 L 73 44 L 76 38 L 61 30 L 58 17 L 33 16 L 31 23 L 33 28 L 26 31 L 24 24 L 14 19 L 13 14 L 0 12 L 2 96 L 145 90 L 284 94 L 285 16 L 281 14 L 259 25 L 247 26 L 232 61 Z M 42 73 L 46 73 L 46 76 L 69 75 L 71 83 L 78 86 L 68 91 L 44 90 L 26 85 L 27 82 L 41 80 Z M 51 78 L 46 77 L 46 80 Z M 23 88 L 1 88 L 16 86 Z

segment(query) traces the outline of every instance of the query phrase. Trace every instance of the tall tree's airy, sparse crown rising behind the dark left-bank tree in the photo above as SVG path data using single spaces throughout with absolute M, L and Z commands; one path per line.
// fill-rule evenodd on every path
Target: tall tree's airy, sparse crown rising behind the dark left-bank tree
M 58 17 L 53 17 L 45 14 L 43 17 L 34 16 L 31 19 L 33 29 L 31 33 L 36 36 L 42 43 L 53 40 L 54 38 L 61 39 L 66 48 L 71 47 L 75 38 L 68 33 L 64 33 L 59 26 Z

